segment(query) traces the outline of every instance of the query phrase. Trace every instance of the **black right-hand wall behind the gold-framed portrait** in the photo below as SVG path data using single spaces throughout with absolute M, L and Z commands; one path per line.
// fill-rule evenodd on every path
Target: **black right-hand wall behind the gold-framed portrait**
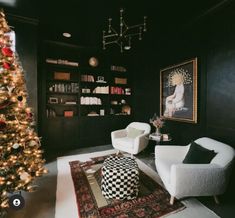
M 202 17 L 178 33 L 155 35 L 134 55 L 135 119 L 160 114 L 160 69 L 198 58 L 197 124 L 166 121 L 175 143 L 210 136 L 235 148 L 235 14 L 233 7 Z M 156 27 L 157 28 L 157 27 Z M 151 31 L 151 30 L 149 30 Z

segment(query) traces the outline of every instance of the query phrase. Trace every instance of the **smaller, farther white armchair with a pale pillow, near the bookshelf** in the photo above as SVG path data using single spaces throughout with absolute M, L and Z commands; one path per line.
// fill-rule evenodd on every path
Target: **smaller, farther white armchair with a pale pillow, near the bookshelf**
M 130 131 L 131 128 L 139 131 L 139 134 L 130 137 L 128 131 Z M 111 132 L 112 145 L 118 151 L 124 151 L 133 156 L 147 147 L 147 136 L 150 131 L 151 127 L 148 123 L 132 122 L 125 129 Z

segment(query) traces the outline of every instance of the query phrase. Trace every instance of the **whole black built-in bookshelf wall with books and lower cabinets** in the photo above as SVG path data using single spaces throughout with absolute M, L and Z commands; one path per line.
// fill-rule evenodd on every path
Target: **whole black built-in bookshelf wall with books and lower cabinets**
M 46 42 L 43 48 L 39 90 L 43 144 L 110 143 L 110 131 L 131 119 L 127 68 L 102 61 L 91 66 L 92 55 L 83 56 L 77 46 Z

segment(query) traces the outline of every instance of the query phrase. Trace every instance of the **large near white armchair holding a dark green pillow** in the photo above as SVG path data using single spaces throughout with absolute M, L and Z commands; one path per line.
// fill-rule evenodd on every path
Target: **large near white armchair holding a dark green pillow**
M 235 151 L 232 147 L 211 138 L 195 140 L 202 147 L 217 154 L 209 164 L 182 163 L 190 144 L 187 146 L 156 146 L 156 169 L 167 191 L 174 198 L 186 196 L 214 196 L 225 192 L 231 173 Z

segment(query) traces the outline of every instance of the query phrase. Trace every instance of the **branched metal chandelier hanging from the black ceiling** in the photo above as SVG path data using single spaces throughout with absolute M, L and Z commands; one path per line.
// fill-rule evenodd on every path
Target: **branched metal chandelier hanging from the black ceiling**
M 120 46 L 120 51 L 123 52 L 123 49 L 131 49 L 131 39 L 133 37 L 138 37 L 139 40 L 142 40 L 143 32 L 147 31 L 146 28 L 146 19 L 144 16 L 143 23 L 128 26 L 123 18 L 124 9 L 120 9 L 120 32 L 118 33 L 112 27 L 112 18 L 108 19 L 108 31 L 103 31 L 103 49 L 106 49 L 106 45 L 117 44 Z

